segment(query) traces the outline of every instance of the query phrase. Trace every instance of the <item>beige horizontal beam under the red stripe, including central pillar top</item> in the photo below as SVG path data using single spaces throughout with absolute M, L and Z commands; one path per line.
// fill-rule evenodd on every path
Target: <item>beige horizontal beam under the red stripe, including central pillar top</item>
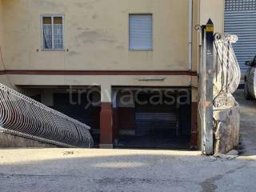
M 111 86 L 186 86 L 189 87 L 191 77 L 176 76 L 146 76 L 147 78 L 165 78 L 163 81 L 139 81 L 139 75 L 7 75 L 15 85 L 19 86 L 101 86 L 102 102 L 111 102 Z M 196 99 L 197 96 L 193 96 Z

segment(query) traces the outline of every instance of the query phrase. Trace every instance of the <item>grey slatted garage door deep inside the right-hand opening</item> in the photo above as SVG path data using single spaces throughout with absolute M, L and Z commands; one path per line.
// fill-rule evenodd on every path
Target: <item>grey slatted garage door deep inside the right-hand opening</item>
M 138 136 L 170 137 L 178 136 L 179 109 L 175 104 L 164 103 L 154 105 L 150 98 L 154 94 L 138 95 L 140 101 L 147 104 L 135 104 L 135 134 Z

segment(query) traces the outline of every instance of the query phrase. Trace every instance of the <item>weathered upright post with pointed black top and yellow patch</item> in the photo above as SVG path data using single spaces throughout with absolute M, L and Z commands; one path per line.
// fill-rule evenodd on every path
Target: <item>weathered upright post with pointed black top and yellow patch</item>
M 200 100 L 202 153 L 214 154 L 214 23 L 209 19 L 202 26 L 202 62 L 200 66 Z

